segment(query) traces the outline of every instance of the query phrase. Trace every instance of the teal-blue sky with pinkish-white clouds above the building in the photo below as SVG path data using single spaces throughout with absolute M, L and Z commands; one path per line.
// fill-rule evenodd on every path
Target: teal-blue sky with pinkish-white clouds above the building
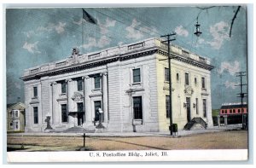
M 84 8 L 97 24 L 82 19 L 82 8 L 7 9 L 7 103 L 24 101 L 20 77 L 26 68 L 65 59 L 73 47 L 87 53 L 171 32 L 177 33 L 172 43 L 211 60 L 212 109 L 220 108 L 224 102 L 239 102 L 236 94 L 240 88 L 235 85 L 240 78 L 236 72 L 247 71 L 247 10 L 242 6 L 237 13 L 230 37 L 236 9 L 237 6 Z M 194 35 L 197 18 L 200 37 Z M 246 78 L 243 83 L 247 83 Z

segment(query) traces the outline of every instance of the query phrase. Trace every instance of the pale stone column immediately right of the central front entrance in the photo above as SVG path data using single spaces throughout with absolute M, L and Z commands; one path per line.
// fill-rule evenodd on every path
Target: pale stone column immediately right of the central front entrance
M 91 104 L 90 104 L 90 77 L 84 77 L 84 106 L 85 106 L 85 124 L 90 125 L 92 124 L 91 119 Z

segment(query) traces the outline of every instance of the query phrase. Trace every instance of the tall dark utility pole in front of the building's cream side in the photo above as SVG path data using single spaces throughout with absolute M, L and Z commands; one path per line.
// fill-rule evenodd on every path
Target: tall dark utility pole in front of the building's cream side
M 170 130 L 170 134 L 172 136 L 172 74 L 171 74 L 171 55 L 170 55 L 170 42 L 173 40 L 176 40 L 176 38 L 172 38 L 172 36 L 176 35 L 176 33 L 171 33 L 171 34 L 167 34 L 164 36 L 161 36 L 161 38 L 167 38 L 166 41 L 162 41 L 162 43 L 166 43 L 168 45 L 168 65 L 169 65 L 169 96 L 170 96 L 170 126 L 169 126 L 169 130 Z

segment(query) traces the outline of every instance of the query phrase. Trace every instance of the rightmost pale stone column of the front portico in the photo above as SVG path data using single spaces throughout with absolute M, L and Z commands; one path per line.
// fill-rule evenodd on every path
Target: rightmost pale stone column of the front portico
M 102 101 L 104 123 L 108 123 L 108 72 L 102 73 Z

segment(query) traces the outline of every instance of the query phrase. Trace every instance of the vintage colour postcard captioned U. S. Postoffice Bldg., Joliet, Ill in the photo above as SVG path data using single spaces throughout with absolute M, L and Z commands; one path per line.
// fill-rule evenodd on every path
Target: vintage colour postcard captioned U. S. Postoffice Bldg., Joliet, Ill
M 248 159 L 247 5 L 7 8 L 7 161 Z

